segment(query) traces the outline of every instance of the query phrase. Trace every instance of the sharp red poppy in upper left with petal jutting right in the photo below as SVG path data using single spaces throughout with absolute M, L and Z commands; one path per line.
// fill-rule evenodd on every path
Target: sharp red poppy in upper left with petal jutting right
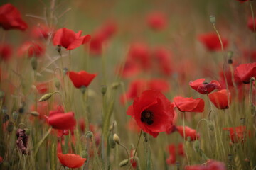
M 82 36 L 82 30 L 75 33 L 68 28 L 60 28 L 53 36 L 53 45 L 60 45 L 65 47 L 66 50 L 73 50 L 80 45 L 83 45 L 90 41 L 90 35 Z

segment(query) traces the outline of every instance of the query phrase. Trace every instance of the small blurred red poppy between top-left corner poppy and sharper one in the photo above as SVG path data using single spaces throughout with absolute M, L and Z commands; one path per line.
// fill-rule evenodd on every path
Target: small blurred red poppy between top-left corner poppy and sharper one
M 31 36 L 36 39 L 47 39 L 50 35 L 50 28 L 43 24 L 34 26 L 31 30 Z

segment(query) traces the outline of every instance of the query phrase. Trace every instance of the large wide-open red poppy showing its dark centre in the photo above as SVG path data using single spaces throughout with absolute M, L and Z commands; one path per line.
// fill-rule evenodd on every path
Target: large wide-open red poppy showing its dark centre
M 166 132 L 174 119 L 174 105 L 159 91 L 146 90 L 134 99 L 127 115 L 134 117 L 139 128 L 157 137 Z

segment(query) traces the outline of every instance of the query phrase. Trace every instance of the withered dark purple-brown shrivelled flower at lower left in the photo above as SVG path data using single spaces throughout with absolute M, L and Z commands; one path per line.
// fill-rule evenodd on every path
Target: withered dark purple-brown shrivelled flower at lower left
M 28 135 L 26 130 L 18 129 L 16 132 L 16 145 L 22 154 L 28 154 Z

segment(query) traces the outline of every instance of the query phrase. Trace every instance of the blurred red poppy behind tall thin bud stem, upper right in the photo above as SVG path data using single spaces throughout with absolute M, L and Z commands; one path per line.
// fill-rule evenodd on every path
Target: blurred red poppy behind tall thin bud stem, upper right
M 221 50 L 220 40 L 216 33 L 205 33 L 198 36 L 198 40 L 210 51 Z M 221 38 L 223 42 L 223 48 L 228 47 L 228 40 Z

